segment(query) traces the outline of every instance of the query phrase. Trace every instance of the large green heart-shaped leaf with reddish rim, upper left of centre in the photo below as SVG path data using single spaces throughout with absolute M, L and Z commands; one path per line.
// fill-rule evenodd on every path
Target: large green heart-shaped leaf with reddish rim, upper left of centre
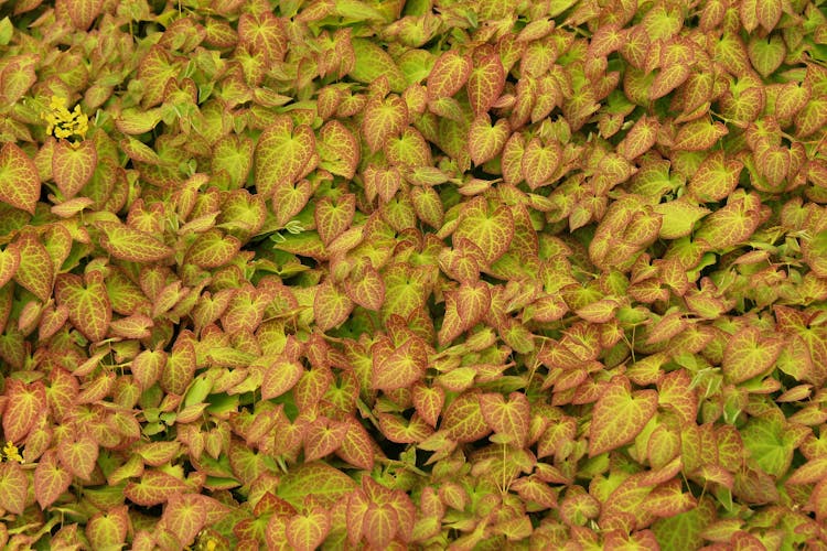
M 294 184 L 315 165 L 315 134 L 307 125 L 293 128 L 287 115 L 277 116 L 258 138 L 255 151 L 256 188 L 269 198 L 280 185 Z

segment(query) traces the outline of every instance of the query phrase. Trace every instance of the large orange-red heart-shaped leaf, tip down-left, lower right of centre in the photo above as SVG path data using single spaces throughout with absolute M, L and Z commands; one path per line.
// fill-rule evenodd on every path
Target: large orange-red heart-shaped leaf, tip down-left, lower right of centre
M 612 382 L 598 398 L 589 433 L 589 457 L 615 450 L 640 434 L 657 410 L 657 392 L 631 392 L 624 381 Z

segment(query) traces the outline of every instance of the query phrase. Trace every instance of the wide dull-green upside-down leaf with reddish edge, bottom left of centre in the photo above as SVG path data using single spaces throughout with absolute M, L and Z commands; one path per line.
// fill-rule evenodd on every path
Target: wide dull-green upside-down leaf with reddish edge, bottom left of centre
M 320 506 L 331 508 L 353 489 L 356 483 L 325 463 L 303 463 L 281 477 L 276 495 L 300 509 L 311 496 Z

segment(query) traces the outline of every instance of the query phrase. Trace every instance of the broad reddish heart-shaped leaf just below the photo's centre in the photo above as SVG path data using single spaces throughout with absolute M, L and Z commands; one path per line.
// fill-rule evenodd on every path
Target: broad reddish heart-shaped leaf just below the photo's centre
M 373 356 L 372 388 L 385 391 L 405 388 L 419 380 L 428 364 L 428 356 L 420 343 L 409 338 L 394 347 L 389 339 L 377 341 L 370 347 Z

